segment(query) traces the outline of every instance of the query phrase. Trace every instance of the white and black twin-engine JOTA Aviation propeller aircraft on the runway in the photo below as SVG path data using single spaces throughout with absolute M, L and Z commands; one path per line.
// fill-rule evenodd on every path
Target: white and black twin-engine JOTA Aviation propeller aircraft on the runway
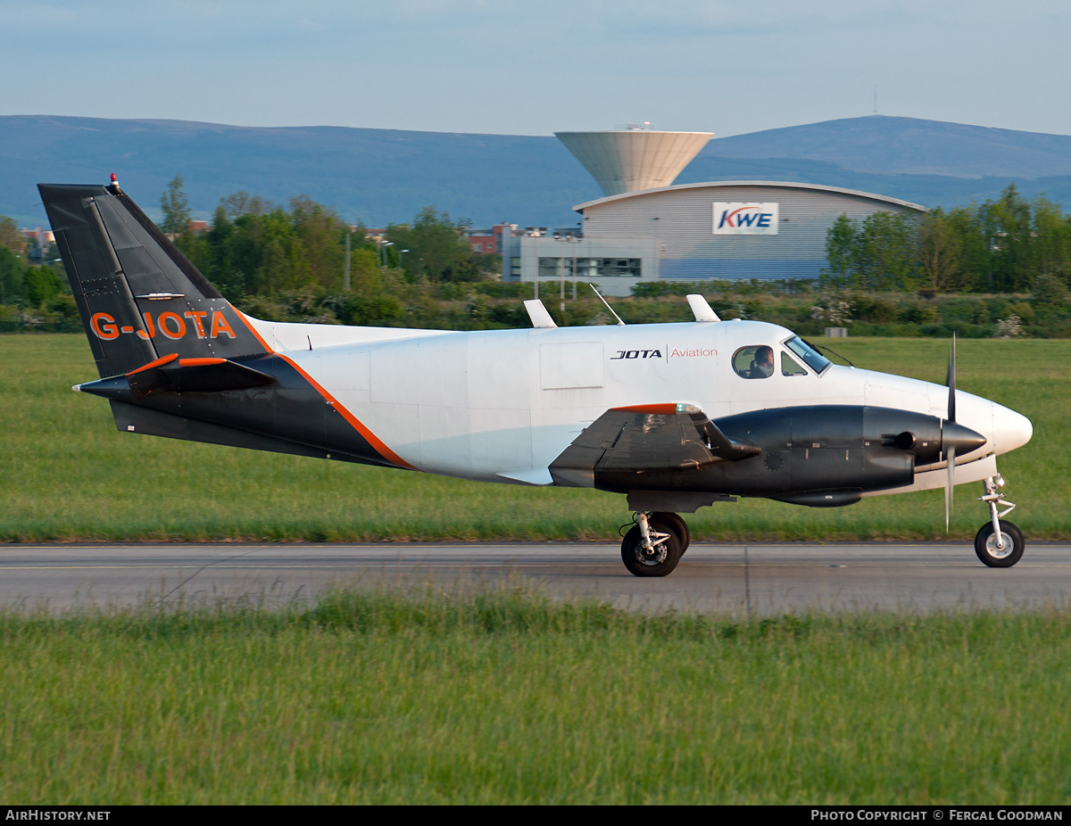
M 134 202 L 41 184 L 122 431 L 623 493 L 625 567 L 662 577 L 689 545 L 678 513 L 735 496 L 813 507 L 983 483 L 979 559 L 1014 565 L 996 457 L 1024 416 L 949 386 L 831 364 L 775 324 L 721 321 L 455 333 L 258 321 L 232 307 Z M 953 476 L 954 474 L 954 476 Z M 999 508 L 1004 507 L 1004 510 Z M 946 509 L 947 519 L 947 509 Z

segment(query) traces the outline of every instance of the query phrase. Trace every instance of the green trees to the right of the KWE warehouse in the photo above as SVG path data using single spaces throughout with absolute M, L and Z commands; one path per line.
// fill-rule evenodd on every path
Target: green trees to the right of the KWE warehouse
M 1027 293 L 1071 280 L 1071 217 L 1014 184 L 996 200 L 921 215 L 842 215 L 826 239 L 830 288 L 874 292 Z

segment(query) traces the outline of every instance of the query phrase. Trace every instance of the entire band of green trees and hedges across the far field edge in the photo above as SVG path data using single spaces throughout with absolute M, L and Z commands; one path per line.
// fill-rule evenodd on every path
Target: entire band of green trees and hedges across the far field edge
M 519 300 L 530 296 L 531 285 L 498 280 L 498 256 L 472 255 L 468 221 L 434 206 L 369 238 L 365 227 L 306 196 L 283 206 L 239 192 L 221 199 L 212 220 L 195 230 L 176 178 L 161 210 L 161 229 L 224 295 L 258 318 L 447 330 L 527 324 Z M 951 324 L 961 335 L 993 335 L 1015 319 L 1028 335 L 1071 335 L 1071 218 L 1044 198 L 1024 199 L 1014 186 L 981 205 L 881 212 L 858 221 L 841 216 L 827 254 L 818 282 L 647 284 L 621 312 L 630 322 L 684 320 L 687 305 L 668 296 L 702 289 L 726 317 L 811 333 L 850 323 L 876 335 L 938 335 Z M 43 263 L 30 263 L 16 225 L 0 216 L 0 322 L 77 319 L 56 258 L 55 248 L 40 250 Z M 561 318 L 556 305 L 548 309 L 560 324 L 600 323 L 603 311 L 585 296 L 570 301 Z

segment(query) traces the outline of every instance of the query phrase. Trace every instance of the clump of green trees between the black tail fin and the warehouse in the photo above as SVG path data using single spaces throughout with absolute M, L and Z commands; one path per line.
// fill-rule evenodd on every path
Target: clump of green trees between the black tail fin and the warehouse
M 369 236 L 307 196 L 283 206 L 239 192 L 221 199 L 208 228 L 196 231 L 177 177 L 161 210 L 161 229 L 194 265 L 237 305 L 268 319 L 396 323 L 403 300 L 488 280 L 498 269 L 495 256 L 469 250 L 467 219 L 435 206 Z

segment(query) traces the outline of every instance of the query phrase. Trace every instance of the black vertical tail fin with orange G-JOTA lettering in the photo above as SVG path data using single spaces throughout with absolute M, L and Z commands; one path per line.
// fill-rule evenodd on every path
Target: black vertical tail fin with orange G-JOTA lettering
M 177 354 L 233 358 L 263 339 L 118 185 L 39 184 L 102 377 Z

